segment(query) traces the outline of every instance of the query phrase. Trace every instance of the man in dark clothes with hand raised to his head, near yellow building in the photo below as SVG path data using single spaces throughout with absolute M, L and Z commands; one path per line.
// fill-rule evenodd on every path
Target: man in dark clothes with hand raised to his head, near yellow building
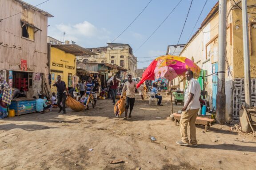
M 66 86 L 66 83 L 64 81 L 61 81 L 61 76 L 57 76 L 57 82 L 54 83 L 52 86 L 57 87 L 57 104 L 60 108 L 59 112 L 60 113 L 63 110 L 62 114 L 66 114 L 66 98 L 68 95 L 68 89 Z M 62 106 L 60 105 L 60 102 L 62 103 Z

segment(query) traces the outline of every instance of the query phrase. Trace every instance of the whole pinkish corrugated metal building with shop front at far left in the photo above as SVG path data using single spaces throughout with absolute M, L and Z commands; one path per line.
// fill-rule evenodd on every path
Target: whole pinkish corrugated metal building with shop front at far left
M 0 71 L 13 88 L 24 86 L 29 97 L 47 91 L 48 17 L 53 16 L 21 0 L 0 1 Z

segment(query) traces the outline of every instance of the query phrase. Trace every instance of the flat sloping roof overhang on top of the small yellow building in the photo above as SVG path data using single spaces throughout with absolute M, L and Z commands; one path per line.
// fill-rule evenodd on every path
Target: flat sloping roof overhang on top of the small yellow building
M 85 48 L 77 45 L 77 44 L 55 44 L 51 45 L 54 48 L 57 48 L 59 50 L 63 50 L 66 53 L 73 54 L 75 56 L 91 56 L 91 55 L 99 55 L 96 53 L 93 53 L 90 50 L 86 50 Z

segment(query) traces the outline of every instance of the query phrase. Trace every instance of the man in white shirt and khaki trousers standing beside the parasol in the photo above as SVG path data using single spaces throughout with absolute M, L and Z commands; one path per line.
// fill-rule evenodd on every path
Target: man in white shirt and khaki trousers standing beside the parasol
M 188 146 L 188 125 L 190 129 L 190 144 L 197 147 L 196 140 L 196 117 L 198 110 L 200 109 L 200 94 L 201 87 L 198 81 L 193 78 L 193 72 L 188 70 L 185 77 L 188 81 L 188 85 L 185 89 L 184 107 L 182 108 L 182 114 L 180 118 L 180 133 L 181 141 L 176 142 L 178 145 Z

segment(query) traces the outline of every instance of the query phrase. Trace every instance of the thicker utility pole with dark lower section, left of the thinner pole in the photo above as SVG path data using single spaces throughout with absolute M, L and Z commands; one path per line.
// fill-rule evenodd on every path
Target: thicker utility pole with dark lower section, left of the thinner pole
M 216 96 L 216 122 L 225 124 L 226 95 L 225 95 L 225 59 L 226 59 L 226 22 L 227 0 L 219 0 L 219 58 L 218 58 L 218 91 Z

